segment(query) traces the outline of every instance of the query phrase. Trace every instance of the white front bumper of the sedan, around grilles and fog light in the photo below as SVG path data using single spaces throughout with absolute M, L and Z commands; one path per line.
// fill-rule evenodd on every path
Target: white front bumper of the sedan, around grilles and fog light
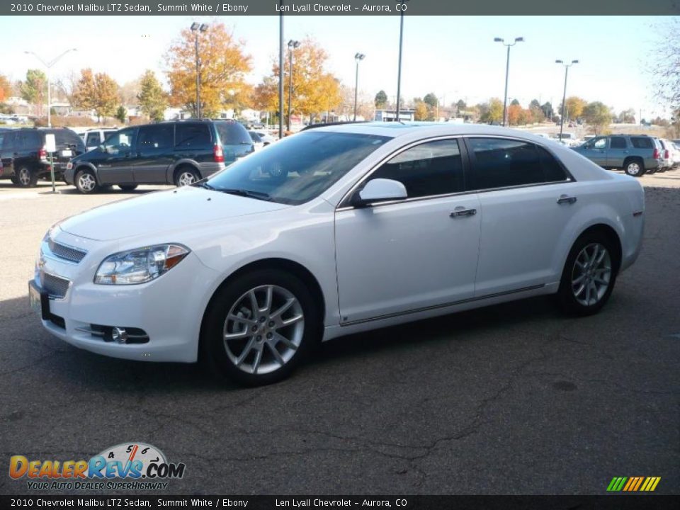
M 47 297 L 42 326 L 73 346 L 115 358 L 191 363 L 198 358 L 198 336 L 203 311 L 215 280 L 213 271 L 190 253 L 156 280 L 140 285 L 98 285 L 94 273 L 106 256 L 120 246 L 77 238 L 60 231 L 60 244 L 87 249 L 79 263 L 65 261 L 42 243 L 40 269 L 31 284 L 38 292 L 42 275 L 69 280 L 63 297 Z M 106 244 L 106 246 L 104 246 Z M 127 248 L 127 247 L 126 247 Z M 44 280 L 44 276 L 42 277 Z M 119 344 L 98 334 L 101 328 L 142 330 L 145 343 Z M 94 332 L 92 332 L 94 331 Z

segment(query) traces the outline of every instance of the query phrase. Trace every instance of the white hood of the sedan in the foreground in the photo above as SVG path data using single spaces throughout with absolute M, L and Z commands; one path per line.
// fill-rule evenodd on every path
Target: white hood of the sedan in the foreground
M 289 207 L 186 186 L 101 205 L 64 220 L 60 227 L 64 232 L 79 237 L 109 241 L 191 228 L 200 223 Z

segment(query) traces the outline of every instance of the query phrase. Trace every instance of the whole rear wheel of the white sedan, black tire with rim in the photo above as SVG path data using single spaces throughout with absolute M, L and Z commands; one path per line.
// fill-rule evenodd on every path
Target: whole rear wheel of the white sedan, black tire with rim
M 616 246 L 602 232 L 576 240 L 562 271 L 558 302 L 572 315 L 591 315 L 606 304 L 616 284 Z

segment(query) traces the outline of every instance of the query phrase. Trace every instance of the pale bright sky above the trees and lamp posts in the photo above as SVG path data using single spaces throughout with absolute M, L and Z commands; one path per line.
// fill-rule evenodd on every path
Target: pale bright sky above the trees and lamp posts
M 278 58 L 278 16 L 219 16 L 246 43 L 257 84 Z M 163 55 L 189 16 L 4 16 L 0 18 L 0 73 L 22 79 L 41 67 L 33 51 L 52 60 L 69 53 L 52 68 L 53 79 L 91 67 L 125 84 L 145 69 L 163 79 Z M 397 94 L 398 16 L 285 16 L 284 37 L 315 38 L 329 54 L 327 69 L 352 86 L 354 54 L 366 55 L 359 68 L 359 91 L 373 98 L 380 89 Z M 663 44 L 664 21 L 641 16 L 405 16 L 402 97 L 429 92 L 443 104 L 462 98 L 480 103 L 503 98 L 506 49 L 495 37 L 514 40 L 511 48 L 509 98 L 523 106 L 562 101 L 565 69 L 555 60 L 579 60 L 570 68 L 567 96 L 602 101 L 616 112 L 642 110 L 643 118 L 668 115 L 652 89 L 653 54 Z M 510 102 L 510 100 L 509 100 Z

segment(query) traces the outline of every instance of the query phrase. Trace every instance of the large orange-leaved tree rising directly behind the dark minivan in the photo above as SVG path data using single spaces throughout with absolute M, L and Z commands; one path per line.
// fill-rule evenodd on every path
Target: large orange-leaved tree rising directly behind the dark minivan
M 186 28 L 166 52 L 166 72 L 170 82 L 170 101 L 196 112 L 195 33 Z M 220 110 L 239 111 L 247 106 L 252 87 L 245 76 L 252 69 L 251 56 L 245 53 L 245 42 L 234 37 L 224 23 L 212 23 L 198 35 L 200 60 L 201 114 L 215 117 Z

